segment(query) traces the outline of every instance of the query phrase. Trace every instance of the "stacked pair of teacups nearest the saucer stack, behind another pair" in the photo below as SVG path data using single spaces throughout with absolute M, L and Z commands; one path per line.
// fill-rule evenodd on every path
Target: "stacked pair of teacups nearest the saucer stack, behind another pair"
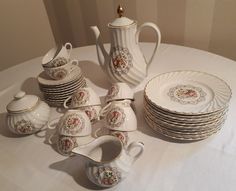
M 69 96 L 64 101 L 63 105 L 66 109 L 78 109 L 85 112 L 92 124 L 99 120 L 101 101 L 99 96 L 90 87 L 77 89 L 72 96 Z

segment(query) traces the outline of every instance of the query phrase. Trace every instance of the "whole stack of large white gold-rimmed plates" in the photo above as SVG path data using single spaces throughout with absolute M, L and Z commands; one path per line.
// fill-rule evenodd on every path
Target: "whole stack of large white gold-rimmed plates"
M 201 140 L 221 129 L 230 98 L 230 87 L 216 76 L 169 72 L 147 83 L 144 116 L 152 129 L 166 137 Z

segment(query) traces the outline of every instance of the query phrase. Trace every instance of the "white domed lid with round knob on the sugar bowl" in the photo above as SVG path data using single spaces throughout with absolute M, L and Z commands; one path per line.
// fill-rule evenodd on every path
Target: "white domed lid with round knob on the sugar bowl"
M 35 95 L 26 95 L 24 91 L 19 91 L 14 99 L 7 105 L 8 113 L 23 113 L 31 111 L 39 103 L 39 97 Z

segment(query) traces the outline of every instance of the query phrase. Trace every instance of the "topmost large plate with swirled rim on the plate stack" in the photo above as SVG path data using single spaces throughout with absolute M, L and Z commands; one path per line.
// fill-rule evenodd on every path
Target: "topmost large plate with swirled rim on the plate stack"
M 219 77 L 191 70 L 160 74 L 146 84 L 144 93 L 161 110 L 183 115 L 222 110 L 232 95 Z

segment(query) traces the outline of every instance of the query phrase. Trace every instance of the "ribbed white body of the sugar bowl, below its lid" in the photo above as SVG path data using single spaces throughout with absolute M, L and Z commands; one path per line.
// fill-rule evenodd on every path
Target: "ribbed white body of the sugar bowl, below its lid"
M 7 125 L 15 134 L 27 135 L 39 131 L 49 120 L 50 107 L 40 101 L 33 110 L 23 113 L 8 113 Z

